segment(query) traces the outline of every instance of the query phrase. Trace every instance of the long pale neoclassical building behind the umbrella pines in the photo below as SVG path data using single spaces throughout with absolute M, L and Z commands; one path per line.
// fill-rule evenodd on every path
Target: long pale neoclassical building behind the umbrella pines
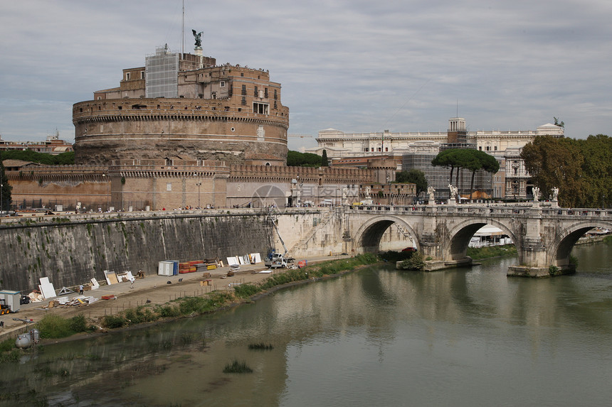
M 322 154 L 334 163 L 345 164 L 357 158 L 394 157 L 398 169 L 417 168 L 426 173 L 428 182 L 438 191 L 440 199 L 448 197 L 448 175 L 442 168 L 431 167 L 431 160 L 441 148 L 476 148 L 486 151 L 500 161 L 500 171 L 494 175 L 482 174 L 480 189 L 492 198 L 526 198 L 532 192 L 529 174 L 520 158 L 521 149 L 536 136 L 563 137 L 564 129 L 555 124 L 543 124 L 526 131 L 468 131 L 465 119 L 448 119 L 448 130 L 437 132 L 344 133 L 336 129 L 319 131 L 318 146 L 310 153 Z M 465 175 L 462 175 L 465 176 Z M 465 181 L 463 182 L 465 184 Z

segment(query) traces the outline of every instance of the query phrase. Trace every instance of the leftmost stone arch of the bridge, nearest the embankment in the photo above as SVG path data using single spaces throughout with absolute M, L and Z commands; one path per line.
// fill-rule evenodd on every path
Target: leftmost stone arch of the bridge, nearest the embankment
M 421 250 L 418 235 L 415 230 L 399 216 L 381 215 L 366 220 L 354 235 L 354 249 L 358 253 L 379 251 L 381 238 L 392 224 L 396 224 L 404 235 L 408 234 L 416 244 L 416 249 Z

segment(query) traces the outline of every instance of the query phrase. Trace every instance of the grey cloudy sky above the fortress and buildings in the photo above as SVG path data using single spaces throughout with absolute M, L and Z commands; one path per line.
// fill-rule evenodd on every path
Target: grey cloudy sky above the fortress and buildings
M 322 129 L 534 130 L 612 136 L 610 0 L 185 0 L 185 50 L 270 71 L 290 148 Z M 182 0 L 0 4 L 0 135 L 74 140 L 72 105 L 167 43 Z M 311 137 L 307 137 L 311 136 Z

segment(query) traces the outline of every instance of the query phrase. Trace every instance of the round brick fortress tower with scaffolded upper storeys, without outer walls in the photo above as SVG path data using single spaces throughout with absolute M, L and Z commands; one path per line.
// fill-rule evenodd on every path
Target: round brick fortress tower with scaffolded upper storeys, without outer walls
M 180 57 L 180 58 L 179 58 Z M 285 165 L 289 109 L 268 71 L 159 48 L 120 87 L 73 106 L 75 163 L 130 159 Z

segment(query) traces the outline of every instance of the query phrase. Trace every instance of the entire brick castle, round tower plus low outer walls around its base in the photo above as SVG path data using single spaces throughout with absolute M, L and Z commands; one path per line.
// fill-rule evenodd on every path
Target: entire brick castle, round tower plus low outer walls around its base
M 412 203 L 413 184 L 391 191 L 392 161 L 368 169 L 287 167 L 289 109 L 267 70 L 216 65 L 167 46 L 120 86 L 73 105 L 75 165 L 11 163 L 18 209 L 171 210 L 355 202 L 365 186 Z M 393 193 L 392 193 L 393 192 Z

